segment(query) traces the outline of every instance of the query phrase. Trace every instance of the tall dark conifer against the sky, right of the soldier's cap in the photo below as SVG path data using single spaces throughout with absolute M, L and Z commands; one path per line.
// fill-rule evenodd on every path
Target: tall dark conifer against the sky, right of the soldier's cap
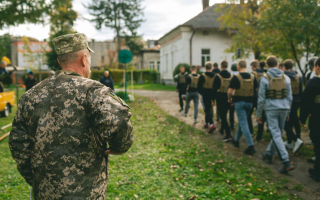
M 117 51 L 121 50 L 121 38 L 126 35 L 136 36 L 136 31 L 143 22 L 141 0 L 92 0 L 85 6 L 93 16 L 90 21 L 97 29 L 114 29 L 117 38 Z

